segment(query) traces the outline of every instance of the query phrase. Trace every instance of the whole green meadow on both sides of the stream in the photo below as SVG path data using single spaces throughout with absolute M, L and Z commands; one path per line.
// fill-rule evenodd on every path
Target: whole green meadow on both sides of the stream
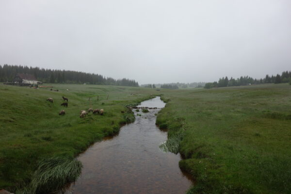
M 157 125 L 168 129 L 164 149 L 180 152 L 180 168 L 193 175 L 188 194 L 291 193 L 289 84 L 161 91 L 53 86 L 59 92 L 0 84 L 0 188 L 25 187 L 41 166 L 38 161 L 75 158 L 132 121 L 126 105 L 161 95 L 167 104 Z M 69 98 L 67 108 L 60 106 L 62 96 Z M 80 118 L 91 105 L 103 108 L 104 116 Z M 59 116 L 63 109 L 65 116 Z

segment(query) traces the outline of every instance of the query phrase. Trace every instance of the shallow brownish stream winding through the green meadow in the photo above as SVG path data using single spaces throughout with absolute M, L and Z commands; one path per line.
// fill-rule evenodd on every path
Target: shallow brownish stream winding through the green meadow
M 146 100 L 139 107 L 157 107 L 137 115 L 134 123 L 119 134 L 88 148 L 78 160 L 81 177 L 70 188 L 73 194 L 184 194 L 192 184 L 179 169 L 179 155 L 165 153 L 159 145 L 167 133 L 155 125 L 165 106 L 160 97 Z M 67 193 L 68 193 L 67 192 Z

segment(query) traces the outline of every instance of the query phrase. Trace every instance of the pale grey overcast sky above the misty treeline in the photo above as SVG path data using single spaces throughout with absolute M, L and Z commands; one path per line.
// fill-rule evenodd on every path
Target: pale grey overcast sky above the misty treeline
M 145 83 L 291 70 L 291 0 L 0 0 L 0 65 Z

